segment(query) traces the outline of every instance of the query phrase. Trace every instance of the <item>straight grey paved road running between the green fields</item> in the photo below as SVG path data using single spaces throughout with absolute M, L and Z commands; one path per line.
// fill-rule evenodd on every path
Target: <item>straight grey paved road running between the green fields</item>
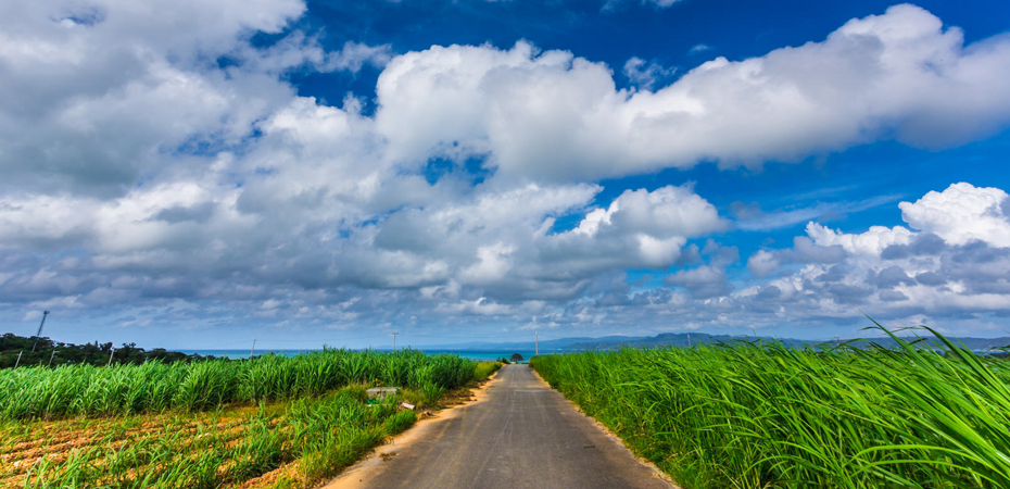
M 506 365 L 482 399 L 415 428 L 328 488 L 666 488 L 528 365 Z M 392 456 L 391 456 L 392 454 Z M 386 460 L 383 460 L 386 459 Z

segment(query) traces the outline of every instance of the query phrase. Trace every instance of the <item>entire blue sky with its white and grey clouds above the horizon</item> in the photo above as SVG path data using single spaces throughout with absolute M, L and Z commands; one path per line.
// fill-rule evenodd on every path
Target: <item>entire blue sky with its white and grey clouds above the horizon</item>
M 0 333 L 1010 336 L 1010 2 L 0 4 Z

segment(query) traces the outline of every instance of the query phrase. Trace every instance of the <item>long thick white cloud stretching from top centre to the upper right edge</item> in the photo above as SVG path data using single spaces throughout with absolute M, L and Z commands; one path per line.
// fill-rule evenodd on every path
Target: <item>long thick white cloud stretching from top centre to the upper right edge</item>
M 432 47 L 389 63 L 377 124 L 397 158 L 478 155 L 500 178 L 592 180 L 881 139 L 960 145 L 1010 123 L 1008 75 L 1010 38 L 964 46 L 960 29 L 902 4 L 820 42 L 718 58 L 656 91 L 617 90 L 604 64 L 525 41 Z

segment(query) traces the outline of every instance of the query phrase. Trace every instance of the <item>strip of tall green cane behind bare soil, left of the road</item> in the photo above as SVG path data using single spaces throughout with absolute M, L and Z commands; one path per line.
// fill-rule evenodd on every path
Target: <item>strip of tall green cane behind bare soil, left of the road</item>
M 204 411 L 319 396 L 350 384 L 454 389 L 477 363 L 419 351 L 325 350 L 295 358 L 0 371 L 0 419 Z

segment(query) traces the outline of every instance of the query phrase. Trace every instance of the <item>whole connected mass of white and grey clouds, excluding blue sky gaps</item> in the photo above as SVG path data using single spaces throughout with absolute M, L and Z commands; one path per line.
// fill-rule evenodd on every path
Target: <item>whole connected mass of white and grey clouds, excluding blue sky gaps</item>
M 327 51 L 295 26 L 304 12 L 274 0 L 0 7 L 0 89 L 17 93 L 0 100 L 0 314 L 694 328 L 831 323 L 850 304 L 1003 312 L 999 189 L 901 203 L 908 227 L 811 223 L 792 248 L 749 256 L 743 278 L 738 251 L 718 242 L 734 223 L 691 185 L 597 199 L 603 178 L 700 162 L 983 138 L 1010 122 L 1005 36 L 964 46 L 958 28 L 897 5 L 672 83 L 631 62 L 637 88 L 617 90 L 605 64 L 525 41 Z M 351 93 L 301 97 L 286 78 L 365 66 L 381 70 L 374 113 Z M 660 284 L 632 289 L 628 271 Z

